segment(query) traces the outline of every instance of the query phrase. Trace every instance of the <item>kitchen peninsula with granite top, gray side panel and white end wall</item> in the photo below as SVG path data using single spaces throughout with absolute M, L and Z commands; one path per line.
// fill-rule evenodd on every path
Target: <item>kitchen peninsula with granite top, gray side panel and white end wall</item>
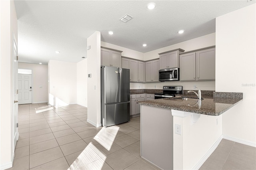
M 174 97 L 140 101 L 141 157 L 161 169 L 198 169 L 222 139 L 222 115 L 242 93 L 211 99 Z M 161 140 L 160 140 L 161 139 Z

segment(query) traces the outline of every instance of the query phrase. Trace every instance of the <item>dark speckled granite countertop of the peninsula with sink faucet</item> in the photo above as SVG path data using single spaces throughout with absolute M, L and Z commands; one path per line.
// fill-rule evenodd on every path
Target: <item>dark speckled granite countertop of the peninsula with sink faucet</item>
M 242 98 L 209 98 L 204 98 L 201 100 L 200 107 L 198 104 L 200 103 L 198 102 L 198 99 L 189 98 L 187 100 L 183 100 L 181 97 L 138 101 L 138 103 L 152 107 L 218 116 L 236 105 L 239 101 L 242 101 Z

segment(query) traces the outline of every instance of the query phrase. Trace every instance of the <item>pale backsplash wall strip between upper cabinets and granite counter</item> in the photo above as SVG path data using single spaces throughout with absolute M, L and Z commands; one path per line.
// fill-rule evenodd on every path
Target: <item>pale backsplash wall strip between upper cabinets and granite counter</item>
M 196 85 L 200 90 L 215 91 L 215 81 L 165 81 L 157 83 L 130 83 L 130 89 L 163 89 L 164 85 L 183 86 L 184 90 L 193 90 Z

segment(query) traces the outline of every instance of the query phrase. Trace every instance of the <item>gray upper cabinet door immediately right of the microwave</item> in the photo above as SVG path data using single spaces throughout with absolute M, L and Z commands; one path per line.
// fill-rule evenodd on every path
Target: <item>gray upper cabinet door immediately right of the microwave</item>
M 180 81 L 196 80 L 196 53 L 180 55 Z

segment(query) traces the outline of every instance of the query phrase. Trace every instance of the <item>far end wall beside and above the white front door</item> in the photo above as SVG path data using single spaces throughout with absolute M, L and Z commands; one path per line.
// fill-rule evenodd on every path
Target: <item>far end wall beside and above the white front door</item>
M 48 102 L 48 65 L 18 63 L 19 69 L 32 70 L 32 103 Z M 42 87 L 42 88 L 40 88 Z

